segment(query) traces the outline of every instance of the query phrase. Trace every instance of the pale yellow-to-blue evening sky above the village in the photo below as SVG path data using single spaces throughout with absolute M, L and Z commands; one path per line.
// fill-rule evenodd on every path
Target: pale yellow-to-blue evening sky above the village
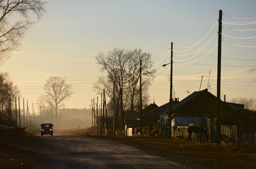
M 202 75 L 201 90 L 207 88 L 209 81 L 210 91 L 216 95 L 217 47 L 213 47 L 217 36 L 207 43 L 218 31 L 218 24 L 202 38 L 216 23 L 220 9 L 224 13 L 222 21 L 238 25 L 256 21 L 229 17 L 255 17 L 255 0 L 48 0 L 46 8 L 47 13 L 25 34 L 19 50 L 0 67 L 18 85 L 29 106 L 36 104 L 37 97 L 43 94 L 48 77 L 60 76 L 73 84 L 73 95 L 65 101 L 65 107 L 89 108 L 91 99 L 99 96 L 93 91 L 93 83 L 105 75 L 94 57 L 114 47 L 141 48 L 152 54 L 153 62 L 159 63 L 155 66 L 159 72 L 149 88 L 150 103 L 165 104 L 169 100 L 169 67 L 162 68 L 162 64 L 169 63 L 170 53 L 164 56 L 171 42 L 175 51 L 175 97 L 182 100 L 199 91 Z M 253 37 L 256 30 L 232 29 L 255 28 L 255 23 L 223 23 L 222 33 L 237 38 Z M 226 95 L 228 101 L 234 97 L 256 97 L 256 82 L 252 83 L 256 73 L 248 71 L 256 66 L 256 48 L 237 46 L 256 46 L 256 38 L 222 38 L 222 97 Z M 192 49 L 178 47 L 194 45 L 201 39 Z

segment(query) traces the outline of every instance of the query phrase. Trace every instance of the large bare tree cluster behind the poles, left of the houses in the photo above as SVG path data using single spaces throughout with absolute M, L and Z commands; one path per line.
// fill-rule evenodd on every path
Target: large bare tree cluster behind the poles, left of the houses
M 94 89 L 106 94 L 113 99 L 113 83 L 115 83 L 116 98 L 119 92 L 119 80 L 123 88 L 123 105 L 125 110 L 134 110 L 139 105 L 139 69 L 142 61 L 142 97 L 143 103 L 148 101 L 148 86 L 155 78 L 155 69 L 152 68 L 151 54 L 142 52 L 141 49 L 126 50 L 114 48 L 108 52 L 100 52 L 95 57 L 101 71 L 107 73 L 107 77 L 100 77 L 94 83 Z

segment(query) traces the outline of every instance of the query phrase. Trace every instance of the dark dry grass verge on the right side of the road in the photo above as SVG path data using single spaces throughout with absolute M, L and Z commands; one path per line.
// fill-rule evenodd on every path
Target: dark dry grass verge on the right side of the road
M 92 132 L 88 132 L 96 136 Z M 215 143 L 188 143 L 187 139 L 149 136 L 96 136 L 131 145 L 149 154 L 162 156 L 188 166 L 205 169 L 254 169 L 256 150 L 243 146 L 222 147 Z

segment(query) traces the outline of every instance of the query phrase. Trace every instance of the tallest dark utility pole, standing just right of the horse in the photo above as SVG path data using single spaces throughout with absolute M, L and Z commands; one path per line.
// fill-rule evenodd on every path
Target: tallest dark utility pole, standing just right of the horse
M 218 31 L 218 69 L 217 69 L 217 113 L 216 113 L 216 144 L 221 144 L 221 57 L 222 57 L 222 10 L 219 10 Z

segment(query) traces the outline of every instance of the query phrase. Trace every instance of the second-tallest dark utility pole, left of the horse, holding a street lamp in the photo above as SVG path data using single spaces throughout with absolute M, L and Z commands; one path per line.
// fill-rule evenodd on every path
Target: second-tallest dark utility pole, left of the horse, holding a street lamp
M 173 43 L 171 43 L 171 74 L 170 74 L 170 99 L 169 99 L 169 138 L 172 138 L 172 71 L 173 71 Z

